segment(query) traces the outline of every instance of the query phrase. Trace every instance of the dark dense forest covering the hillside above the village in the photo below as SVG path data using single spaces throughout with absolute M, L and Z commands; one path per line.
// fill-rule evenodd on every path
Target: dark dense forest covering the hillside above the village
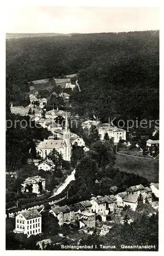
M 24 100 L 27 81 L 73 73 L 81 93 L 76 88 L 71 103 L 80 115 L 158 119 L 159 31 L 6 41 L 8 103 Z

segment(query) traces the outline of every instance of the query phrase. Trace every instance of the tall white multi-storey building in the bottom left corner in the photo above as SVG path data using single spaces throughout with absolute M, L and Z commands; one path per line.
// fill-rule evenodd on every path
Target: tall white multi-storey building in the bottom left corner
M 41 233 L 41 214 L 38 210 L 22 210 L 15 217 L 15 233 L 24 233 L 28 236 Z

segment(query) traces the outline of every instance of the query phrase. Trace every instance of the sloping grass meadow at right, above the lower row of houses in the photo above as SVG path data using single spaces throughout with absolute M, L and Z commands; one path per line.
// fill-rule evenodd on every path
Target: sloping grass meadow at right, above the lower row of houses
M 132 156 L 116 154 L 114 167 L 119 168 L 121 172 L 133 173 L 145 177 L 150 182 L 158 182 L 158 164 L 158 159 L 135 158 Z

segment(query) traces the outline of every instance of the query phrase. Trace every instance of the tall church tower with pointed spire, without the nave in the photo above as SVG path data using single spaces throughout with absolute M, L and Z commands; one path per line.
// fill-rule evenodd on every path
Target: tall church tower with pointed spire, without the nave
M 63 130 L 63 159 L 65 161 L 71 161 L 71 142 L 67 112 L 65 118 L 65 127 Z

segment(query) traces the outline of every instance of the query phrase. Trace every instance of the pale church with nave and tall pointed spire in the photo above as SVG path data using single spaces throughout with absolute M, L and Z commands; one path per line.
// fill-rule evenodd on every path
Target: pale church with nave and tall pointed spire
M 70 130 L 68 125 L 67 119 L 67 112 L 66 112 L 66 119 L 65 119 L 65 127 L 63 129 L 63 138 L 59 140 L 54 139 L 44 139 L 41 141 L 38 146 L 36 147 L 36 152 L 44 159 L 46 156 L 50 154 L 51 151 L 55 148 L 60 154 L 62 154 L 63 159 L 65 161 L 71 161 L 71 142 L 70 142 Z

